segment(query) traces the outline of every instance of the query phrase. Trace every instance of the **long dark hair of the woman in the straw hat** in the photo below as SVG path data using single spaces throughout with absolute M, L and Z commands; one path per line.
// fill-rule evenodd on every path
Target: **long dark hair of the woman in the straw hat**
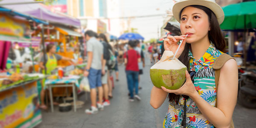
M 226 42 L 224 39 L 224 36 L 221 32 L 221 28 L 219 26 L 218 20 L 215 16 L 215 14 L 207 7 L 204 6 L 198 6 L 198 5 L 192 5 L 191 7 L 198 8 L 203 10 L 208 15 L 208 20 L 210 23 L 210 31 L 208 32 L 208 38 L 209 41 L 211 41 L 216 49 L 221 50 L 222 52 L 226 52 Z M 186 7 L 185 7 L 186 8 Z M 183 8 L 183 9 L 185 9 Z M 181 13 L 183 12 L 183 9 L 180 11 L 180 18 Z M 186 65 L 187 70 L 189 71 L 189 49 L 191 47 L 191 44 L 185 44 L 185 48 L 183 52 L 181 53 L 180 57 L 178 58 L 184 65 Z M 175 101 L 176 104 L 179 102 L 180 95 L 175 95 L 174 93 L 169 93 L 169 102 Z

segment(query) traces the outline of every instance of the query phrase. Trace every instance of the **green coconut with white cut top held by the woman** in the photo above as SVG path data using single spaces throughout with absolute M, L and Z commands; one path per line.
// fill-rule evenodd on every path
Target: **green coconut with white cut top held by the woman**
M 150 68 L 150 78 L 155 87 L 179 89 L 186 80 L 186 66 L 174 56 L 172 51 L 164 51 L 160 61 Z

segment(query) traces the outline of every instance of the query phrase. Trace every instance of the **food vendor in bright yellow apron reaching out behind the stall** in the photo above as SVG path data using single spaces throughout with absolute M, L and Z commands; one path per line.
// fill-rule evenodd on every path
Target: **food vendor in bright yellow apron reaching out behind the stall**
M 54 44 L 48 44 L 46 47 L 46 73 L 47 75 L 50 75 L 52 70 L 55 70 L 55 68 L 57 67 L 57 61 L 58 60 L 64 60 L 64 61 L 72 61 L 71 58 L 67 58 L 58 54 L 55 54 L 56 51 L 56 47 Z M 44 67 L 44 57 L 41 58 L 41 62 L 39 63 L 39 67 L 41 68 L 42 72 L 45 73 L 45 67 Z M 45 96 L 45 87 L 44 87 L 44 81 L 45 79 L 43 79 L 43 87 L 41 90 L 41 106 L 40 108 L 42 109 L 47 109 L 47 106 L 44 104 L 44 96 Z

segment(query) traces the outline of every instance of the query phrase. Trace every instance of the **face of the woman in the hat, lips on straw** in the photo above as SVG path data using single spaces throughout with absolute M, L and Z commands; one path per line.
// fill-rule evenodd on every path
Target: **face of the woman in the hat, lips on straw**
M 201 9 L 191 6 L 183 9 L 180 18 L 180 31 L 186 35 L 187 43 L 193 43 L 208 38 L 210 23 L 208 15 Z

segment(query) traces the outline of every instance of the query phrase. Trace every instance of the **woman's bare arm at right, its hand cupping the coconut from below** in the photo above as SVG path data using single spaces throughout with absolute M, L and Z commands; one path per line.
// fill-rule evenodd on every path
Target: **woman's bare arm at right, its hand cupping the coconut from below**
M 198 94 L 188 72 L 186 72 L 186 79 L 187 81 L 180 89 L 168 90 L 165 87 L 162 87 L 162 89 L 168 93 L 189 96 L 212 125 L 217 128 L 229 128 L 238 91 L 238 69 L 236 61 L 231 59 L 221 68 L 218 82 L 217 108 L 209 105 L 209 103 Z

